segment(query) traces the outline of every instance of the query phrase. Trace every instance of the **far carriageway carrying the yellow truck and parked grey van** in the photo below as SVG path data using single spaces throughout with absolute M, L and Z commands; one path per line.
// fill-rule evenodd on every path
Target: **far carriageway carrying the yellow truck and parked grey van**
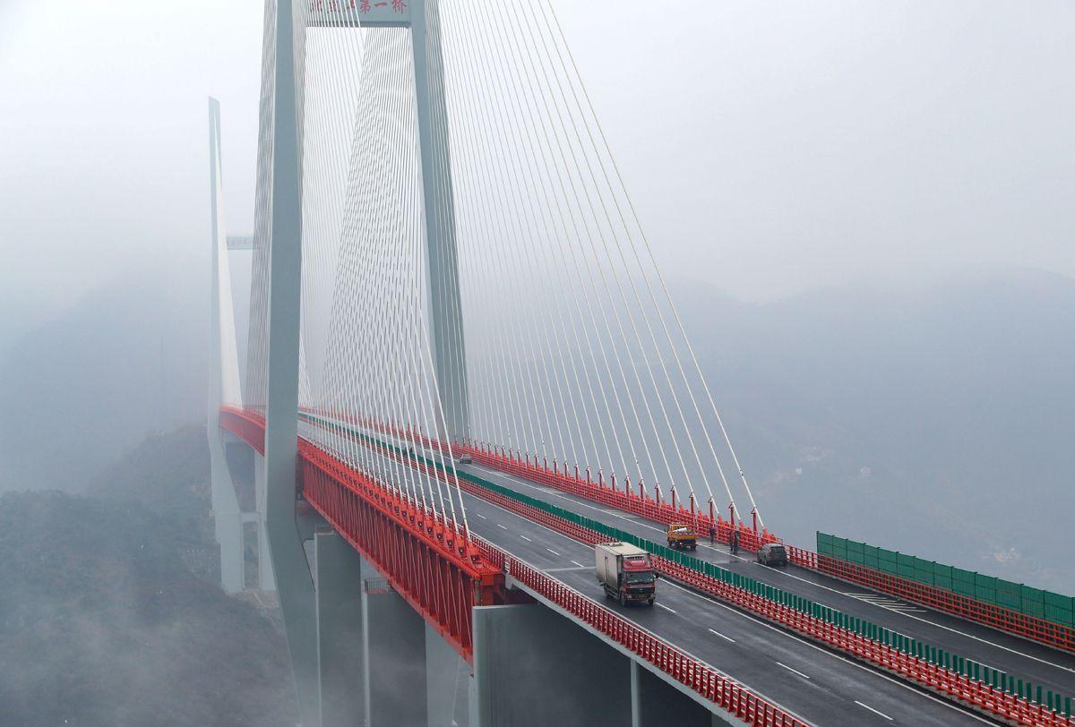
M 664 542 L 665 528 L 661 523 L 489 467 L 464 465 L 460 469 L 633 535 L 661 544 Z M 698 551 L 691 554 L 988 667 L 1001 669 L 1035 685 L 1041 684 L 1043 689 L 1075 697 L 1075 657 L 1069 654 L 812 570 L 796 566 L 762 566 L 754 559 L 752 553 L 733 556 L 728 552 L 727 546 L 719 543 L 711 547 L 707 542 L 700 541 Z

